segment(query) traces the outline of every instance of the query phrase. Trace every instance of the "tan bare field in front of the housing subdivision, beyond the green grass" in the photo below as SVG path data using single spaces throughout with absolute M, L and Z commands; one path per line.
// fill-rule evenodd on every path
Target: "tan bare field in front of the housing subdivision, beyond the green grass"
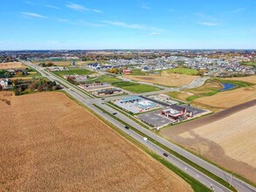
M 124 75 L 125 78 L 135 81 L 148 82 L 163 86 L 184 86 L 190 84 L 198 76 L 168 73 L 163 71 L 160 75 L 149 74 L 149 76 Z

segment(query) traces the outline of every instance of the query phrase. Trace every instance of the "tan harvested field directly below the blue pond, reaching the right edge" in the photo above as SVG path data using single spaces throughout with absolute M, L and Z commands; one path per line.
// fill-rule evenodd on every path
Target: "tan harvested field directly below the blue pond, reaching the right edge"
M 256 86 L 241 87 L 232 91 L 217 93 L 209 97 L 198 98 L 193 100 L 193 104 L 227 109 L 253 99 L 256 99 Z

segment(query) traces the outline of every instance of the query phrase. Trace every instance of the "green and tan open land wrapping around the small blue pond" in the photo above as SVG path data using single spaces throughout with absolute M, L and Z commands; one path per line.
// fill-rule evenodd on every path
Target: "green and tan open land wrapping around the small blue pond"
M 220 82 L 228 82 L 237 85 L 239 88 L 220 92 L 223 87 Z M 225 78 L 208 79 L 203 86 L 194 89 L 183 90 L 183 92 L 167 93 L 175 99 L 182 99 L 191 102 L 196 106 L 218 112 L 232 106 L 256 99 L 256 76 L 246 78 Z

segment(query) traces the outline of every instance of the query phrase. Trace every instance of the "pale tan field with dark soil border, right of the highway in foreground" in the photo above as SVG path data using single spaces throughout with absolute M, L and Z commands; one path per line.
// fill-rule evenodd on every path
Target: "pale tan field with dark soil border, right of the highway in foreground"
M 164 137 L 256 183 L 256 99 L 164 129 Z

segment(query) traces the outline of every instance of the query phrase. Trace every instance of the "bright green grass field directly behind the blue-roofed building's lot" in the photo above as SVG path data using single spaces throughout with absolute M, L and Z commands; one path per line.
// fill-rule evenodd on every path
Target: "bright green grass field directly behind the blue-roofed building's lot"
M 114 82 L 112 83 L 113 86 L 118 86 L 122 89 L 128 90 L 132 93 L 149 93 L 149 92 L 156 92 L 161 90 L 160 88 L 156 86 L 149 86 L 149 85 L 143 85 L 143 84 L 137 84 L 132 82 Z

